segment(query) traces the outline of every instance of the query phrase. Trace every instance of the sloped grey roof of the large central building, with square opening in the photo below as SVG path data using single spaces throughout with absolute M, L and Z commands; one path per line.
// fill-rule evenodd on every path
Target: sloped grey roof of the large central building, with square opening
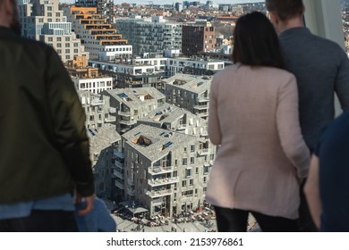
M 174 149 L 183 147 L 185 143 L 197 140 L 197 137 L 143 124 L 124 133 L 123 137 L 127 140 L 126 144 L 150 161 L 157 161 Z

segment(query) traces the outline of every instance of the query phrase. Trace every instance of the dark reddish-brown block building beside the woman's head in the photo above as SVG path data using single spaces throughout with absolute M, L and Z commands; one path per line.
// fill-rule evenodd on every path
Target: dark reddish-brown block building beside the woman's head
M 187 22 L 183 25 L 182 53 L 196 55 L 214 51 L 216 48 L 215 27 L 209 21 Z

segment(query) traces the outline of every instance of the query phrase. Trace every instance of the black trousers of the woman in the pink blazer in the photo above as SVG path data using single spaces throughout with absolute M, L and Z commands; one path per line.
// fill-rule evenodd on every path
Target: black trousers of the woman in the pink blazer
M 246 232 L 249 212 L 215 206 L 219 232 Z M 297 220 L 274 217 L 260 212 L 251 212 L 263 232 L 296 232 Z

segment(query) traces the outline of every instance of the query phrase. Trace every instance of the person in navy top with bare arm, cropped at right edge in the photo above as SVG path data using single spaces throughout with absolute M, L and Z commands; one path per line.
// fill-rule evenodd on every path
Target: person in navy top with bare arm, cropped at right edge
M 321 134 L 304 192 L 319 231 L 349 232 L 349 112 Z

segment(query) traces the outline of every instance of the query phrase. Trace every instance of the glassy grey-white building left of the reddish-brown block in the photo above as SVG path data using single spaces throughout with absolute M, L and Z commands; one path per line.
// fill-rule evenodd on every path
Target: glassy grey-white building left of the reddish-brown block
M 182 23 L 166 22 L 162 16 L 117 19 L 115 27 L 133 46 L 133 54 L 163 54 L 182 50 Z

